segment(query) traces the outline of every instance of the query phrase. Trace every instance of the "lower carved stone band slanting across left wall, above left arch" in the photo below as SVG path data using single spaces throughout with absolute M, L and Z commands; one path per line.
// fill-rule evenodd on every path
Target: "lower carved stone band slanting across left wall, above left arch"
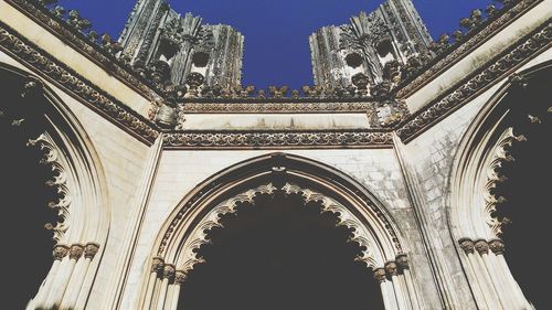
M 59 87 L 81 98 L 86 105 L 128 129 L 141 140 L 151 142 L 159 136 L 159 130 L 149 120 L 129 108 L 124 108 L 123 103 L 15 33 L 0 22 L 0 50 L 40 71 Z

